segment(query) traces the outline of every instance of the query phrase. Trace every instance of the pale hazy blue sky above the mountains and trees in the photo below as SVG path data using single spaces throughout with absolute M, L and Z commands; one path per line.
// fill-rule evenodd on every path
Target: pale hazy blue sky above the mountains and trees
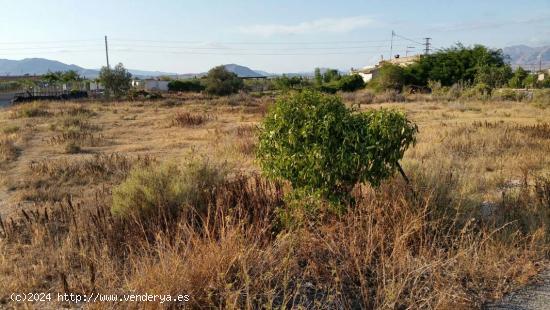
M 0 58 L 85 68 L 202 72 L 237 63 L 270 72 L 349 69 L 456 42 L 550 44 L 550 0 L 0 0 Z M 414 48 L 412 48 L 414 47 Z

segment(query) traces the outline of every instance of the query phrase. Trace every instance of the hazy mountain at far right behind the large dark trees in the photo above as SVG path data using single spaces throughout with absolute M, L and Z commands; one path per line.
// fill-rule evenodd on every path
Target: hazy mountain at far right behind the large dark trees
M 527 70 L 538 70 L 540 60 L 542 60 L 543 68 L 550 67 L 550 46 L 529 47 L 526 45 L 515 45 L 505 47 L 502 51 L 504 55 L 509 56 L 510 64 L 513 67 L 521 66 Z

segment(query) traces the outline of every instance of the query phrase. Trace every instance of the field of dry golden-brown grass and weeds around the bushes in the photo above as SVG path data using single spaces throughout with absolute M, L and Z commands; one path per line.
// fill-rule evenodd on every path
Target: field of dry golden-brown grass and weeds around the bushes
M 550 108 L 361 98 L 344 96 L 418 124 L 403 160 L 412 191 L 399 175 L 357 186 L 355 208 L 292 229 L 277 221 L 288 185 L 265 180 L 254 159 L 272 97 L 0 110 L 0 307 L 13 305 L 8 292 L 36 291 L 185 293 L 191 308 L 467 309 L 547 267 Z M 129 175 L 189 162 L 224 173 L 185 179 L 199 192 L 186 212 L 111 214 Z

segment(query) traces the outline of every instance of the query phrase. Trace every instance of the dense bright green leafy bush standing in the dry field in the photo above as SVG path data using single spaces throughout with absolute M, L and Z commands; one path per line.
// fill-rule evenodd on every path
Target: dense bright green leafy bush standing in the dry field
M 266 175 L 338 203 L 356 183 L 392 175 L 416 132 L 401 112 L 352 113 L 339 97 L 303 91 L 268 113 L 257 156 Z

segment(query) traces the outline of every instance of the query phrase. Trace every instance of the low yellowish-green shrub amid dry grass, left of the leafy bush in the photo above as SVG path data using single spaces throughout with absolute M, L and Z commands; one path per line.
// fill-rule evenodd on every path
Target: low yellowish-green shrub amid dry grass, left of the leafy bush
M 227 175 L 222 165 L 191 160 L 183 166 L 165 163 L 135 167 L 124 182 L 113 189 L 111 211 L 119 216 L 177 215 L 183 208 L 201 212 L 206 195 Z

